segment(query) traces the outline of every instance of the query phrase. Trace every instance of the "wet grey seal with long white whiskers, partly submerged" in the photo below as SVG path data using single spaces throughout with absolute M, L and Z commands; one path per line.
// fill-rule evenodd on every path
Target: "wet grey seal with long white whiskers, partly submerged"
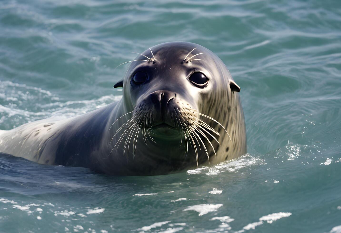
M 129 62 L 114 86 L 121 100 L 2 131 L 0 152 L 109 175 L 168 174 L 246 153 L 240 88 L 213 52 L 168 42 Z

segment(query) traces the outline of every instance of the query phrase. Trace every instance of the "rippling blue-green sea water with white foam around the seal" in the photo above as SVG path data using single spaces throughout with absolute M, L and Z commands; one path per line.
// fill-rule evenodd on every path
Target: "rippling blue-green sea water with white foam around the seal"
M 207 47 L 241 87 L 248 154 L 113 177 L 0 156 L 0 232 L 341 232 L 341 2 L 0 1 L 0 129 L 121 98 L 131 52 Z

